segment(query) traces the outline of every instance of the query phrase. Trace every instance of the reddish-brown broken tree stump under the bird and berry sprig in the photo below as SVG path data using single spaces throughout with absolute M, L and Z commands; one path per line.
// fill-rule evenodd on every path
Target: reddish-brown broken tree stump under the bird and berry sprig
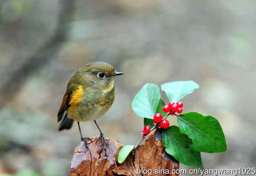
M 172 170 L 178 169 L 179 163 L 165 152 L 161 142 L 161 130 L 152 132 L 135 151 L 134 158 L 130 153 L 122 164 L 117 162 L 117 156 L 123 145 L 106 138 L 108 147 L 104 145 L 101 152 L 101 139 L 96 143 L 97 138 L 92 137 L 92 142 L 88 145 L 89 151 L 83 142 L 76 147 L 70 176 L 178 176 L 172 174 Z

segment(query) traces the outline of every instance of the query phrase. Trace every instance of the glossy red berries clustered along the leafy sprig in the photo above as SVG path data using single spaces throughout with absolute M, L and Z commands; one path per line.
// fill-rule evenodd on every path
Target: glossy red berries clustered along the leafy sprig
M 163 111 L 164 113 L 170 113 L 171 115 L 174 115 L 175 112 L 177 113 L 182 113 L 183 109 L 183 103 L 181 101 L 178 101 L 177 103 L 174 103 L 173 101 L 171 101 L 169 104 L 166 104 L 163 106 Z M 170 126 L 170 122 L 166 119 L 163 120 L 163 115 L 160 113 L 156 113 L 154 115 L 154 125 L 157 125 L 160 122 L 160 124 L 158 125 L 158 128 L 163 128 L 163 129 L 167 129 Z M 144 130 L 141 131 L 141 135 L 147 135 L 150 132 L 150 125 L 146 125 L 144 127 Z

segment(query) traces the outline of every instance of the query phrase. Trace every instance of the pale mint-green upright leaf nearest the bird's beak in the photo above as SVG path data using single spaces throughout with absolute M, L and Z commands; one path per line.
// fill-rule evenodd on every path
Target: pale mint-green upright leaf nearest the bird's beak
M 132 101 L 135 114 L 144 118 L 153 119 L 160 100 L 159 87 L 156 84 L 145 84 Z

